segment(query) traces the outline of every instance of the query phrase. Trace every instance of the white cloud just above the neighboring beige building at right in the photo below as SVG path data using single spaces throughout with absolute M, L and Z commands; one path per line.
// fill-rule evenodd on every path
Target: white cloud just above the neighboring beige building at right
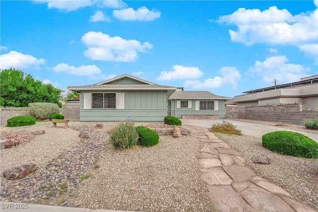
M 280 83 L 298 81 L 307 75 L 306 71 L 309 69 L 287 62 L 288 58 L 285 56 L 270 57 L 263 62 L 256 61 L 248 71 L 258 74 L 265 82 L 272 82 L 274 79 L 279 80 Z

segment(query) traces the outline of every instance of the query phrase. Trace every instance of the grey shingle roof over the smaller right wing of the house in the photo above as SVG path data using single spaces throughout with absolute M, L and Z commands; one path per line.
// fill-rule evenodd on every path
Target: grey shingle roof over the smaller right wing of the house
M 168 99 L 232 99 L 230 97 L 218 96 L 209 91 L 174 91 Z

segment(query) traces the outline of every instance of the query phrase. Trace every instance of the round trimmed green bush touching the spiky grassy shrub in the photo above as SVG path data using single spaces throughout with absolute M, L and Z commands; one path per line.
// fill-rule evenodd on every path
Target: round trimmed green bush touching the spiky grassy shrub
M 136 127 L 141 146 L 154 146 L 159 143 L 159 136 L 156 132 L 144 126 Z

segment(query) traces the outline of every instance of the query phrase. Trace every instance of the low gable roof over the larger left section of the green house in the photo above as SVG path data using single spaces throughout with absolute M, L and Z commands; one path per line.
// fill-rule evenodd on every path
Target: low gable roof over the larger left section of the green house
M 141 82 L 141 84 L 116 84 L 112 83 L 120 79 L 130 78 L 134 81 Z M 102 82 L 98 82 L 91 85 L 81 85 L 81 86 L 68 86 L 69 90 L 175 90 L 176 87 L 159 85 L 153 82 L 138 78 L 136 76 L 132 76 L 129 74 L 122 74 L 120 76 L 116 76 L 111 79 L 107 79 Z M 171 91 L 171 92 L 172 92 Z

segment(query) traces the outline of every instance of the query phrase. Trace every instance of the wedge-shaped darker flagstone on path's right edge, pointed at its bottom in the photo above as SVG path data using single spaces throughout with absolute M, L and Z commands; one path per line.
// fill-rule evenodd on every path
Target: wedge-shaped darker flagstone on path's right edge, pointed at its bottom
M 255 173 L 249 168 L 238 165 L 223 166 L 223 169 L 236 182 L 247 181 L 255 175 Z

